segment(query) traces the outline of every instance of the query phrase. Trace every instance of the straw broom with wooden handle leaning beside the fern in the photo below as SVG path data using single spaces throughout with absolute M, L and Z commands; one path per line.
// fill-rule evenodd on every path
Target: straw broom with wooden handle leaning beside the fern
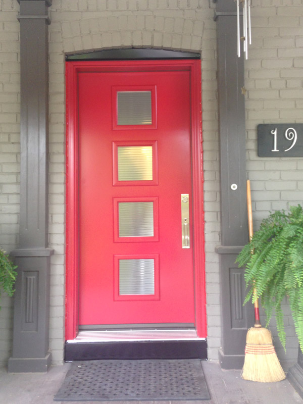
M 247 214 L 250 240 L 254 232 L 252 230 L 249 180 L 247 180 Z M 254 295 L 257 295 L 256 289 L 254 290 Z M 247 331 L 245 359 L 241 377 L 255 382 L 278 382 L 285 379 L 285 373 L 276 355 L 270 331 L 261 326 L 258 299 L 255 300 L 254 305 L 255 326 Z

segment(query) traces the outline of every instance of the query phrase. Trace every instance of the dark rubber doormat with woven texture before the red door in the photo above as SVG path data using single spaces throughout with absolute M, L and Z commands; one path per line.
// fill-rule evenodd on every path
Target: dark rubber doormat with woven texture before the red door
M 55 401 L 209 399 L 198 359 L 73 362 L 54 397 Z

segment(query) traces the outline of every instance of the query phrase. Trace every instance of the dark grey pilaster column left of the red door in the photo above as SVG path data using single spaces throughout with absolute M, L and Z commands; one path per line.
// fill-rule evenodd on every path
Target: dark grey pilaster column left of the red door
M 21 55 L 20 244 L 13 354 L 9 372 L 46 372 L 48 352 L 48 7 L 52 0 L 19 0 Z

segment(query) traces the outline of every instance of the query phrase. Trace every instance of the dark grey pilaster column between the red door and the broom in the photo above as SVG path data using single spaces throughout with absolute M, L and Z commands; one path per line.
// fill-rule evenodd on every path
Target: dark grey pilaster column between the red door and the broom
M 220 255 L 223 369 L 240 369 L 244 363 L 247 328 L 254 324 L 245 296 L 243 269 L 235 259 L 248 241 L 245 171 L 244 62 L 237 57 L 237 17 L 234 0 L 217 0 L 218 98 L 221 162 Z

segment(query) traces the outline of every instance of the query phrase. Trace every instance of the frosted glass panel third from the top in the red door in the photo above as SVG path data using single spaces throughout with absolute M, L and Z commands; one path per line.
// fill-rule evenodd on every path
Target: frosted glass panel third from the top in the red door
M 154 203 L 119 202 L 119 237 L 153 237 Z

